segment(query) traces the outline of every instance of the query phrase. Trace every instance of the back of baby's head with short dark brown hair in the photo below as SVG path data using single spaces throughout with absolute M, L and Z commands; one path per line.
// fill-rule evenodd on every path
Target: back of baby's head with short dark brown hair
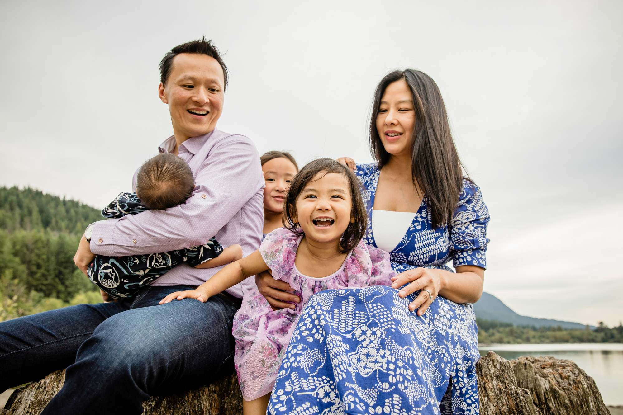
M 193 171 L 179 156 L 159 154 L 145 161 L 136 176 L 136 193 L 149 209 L 178 206 L 191 197 Z

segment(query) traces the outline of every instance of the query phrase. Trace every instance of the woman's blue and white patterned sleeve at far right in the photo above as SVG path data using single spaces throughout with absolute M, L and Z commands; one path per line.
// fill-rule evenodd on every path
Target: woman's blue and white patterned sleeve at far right
M 487 268 L 487 226 L 489 211 L 482 199 L 480 188 L 468 179 L 463 180 L 463 190 L 454 217 L 448 226 L 452 247 L 452 265 L 476 265 Z

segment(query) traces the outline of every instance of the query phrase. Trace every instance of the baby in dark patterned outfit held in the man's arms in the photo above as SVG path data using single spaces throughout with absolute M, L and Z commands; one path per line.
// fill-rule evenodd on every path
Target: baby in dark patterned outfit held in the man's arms
M 122 217 L 148 209 L 167 209 L 184 203 L 193 194 L 193 171 L 173 154 L 160 154 L 146 161 L 136 176 L 136 193 L 120 193 L 102 210 L 104 217 Z M 132 297 L 145 285 L 175 265 L 213 268 L 242 258 L 242 247 L 225 249 L 212 237 L 206 244 L 157 254 L 105 257 L 95 255 L 88 265 L 88 278 L 108 296 Z

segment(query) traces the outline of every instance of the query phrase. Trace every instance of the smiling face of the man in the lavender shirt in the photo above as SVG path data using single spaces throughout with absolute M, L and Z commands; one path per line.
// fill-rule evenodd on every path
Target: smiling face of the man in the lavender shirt
M 179 54 L 173 58 L 173 70 L 166 85 L 159 85 L 158 94 L 169 105 L 178 142 L 214 130 L 223 108 L 224 79 L 213 57 Z

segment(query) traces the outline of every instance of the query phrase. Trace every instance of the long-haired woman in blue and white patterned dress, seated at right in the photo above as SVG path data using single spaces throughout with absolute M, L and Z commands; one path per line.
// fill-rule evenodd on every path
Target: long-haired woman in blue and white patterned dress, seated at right
M 480 189 L 462 177 L 435 82 L 412 69 L 386 75 L 370 140 L 377 163 L 356 168 L 368 193 L 365 239 L 389 250 L 402 273 L 393 289 L 312 297 L 269 411 L 477 414 L 480 355 L 470 303 L 482 294 L 489 215 Z M 445 265 L 450 259 L 456 273 Z M 273 307 L 293 300 L 265 275 L 257 282 Z

